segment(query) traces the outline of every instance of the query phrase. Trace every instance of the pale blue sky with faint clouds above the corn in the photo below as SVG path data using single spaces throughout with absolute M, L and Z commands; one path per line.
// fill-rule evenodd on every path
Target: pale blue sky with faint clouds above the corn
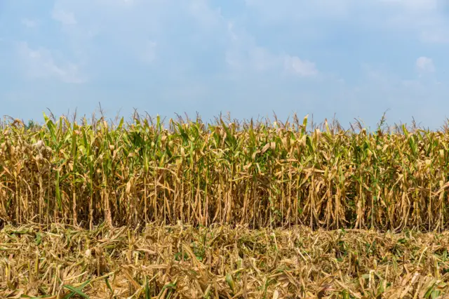
M 449 0 L 0 0 L 0 114 L 449 117 Z

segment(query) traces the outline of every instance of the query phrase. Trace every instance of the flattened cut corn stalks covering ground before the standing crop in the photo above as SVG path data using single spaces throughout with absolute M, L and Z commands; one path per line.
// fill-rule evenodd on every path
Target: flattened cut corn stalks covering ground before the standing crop
M 449 232 L 4 227 L 0 298 L 449 298 Z

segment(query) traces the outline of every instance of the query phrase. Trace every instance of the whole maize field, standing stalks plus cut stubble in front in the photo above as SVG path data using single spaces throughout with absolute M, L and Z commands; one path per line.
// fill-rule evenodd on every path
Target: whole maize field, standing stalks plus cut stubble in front
M 449 128 L 275 120 L 4 121 L 0 297 L 449 298 Z

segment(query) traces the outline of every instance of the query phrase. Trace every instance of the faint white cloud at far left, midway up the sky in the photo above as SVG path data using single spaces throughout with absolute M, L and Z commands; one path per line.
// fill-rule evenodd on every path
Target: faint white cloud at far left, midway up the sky
M 32 49 L 26 42 L 22 42 L 18 46 L 18 54 L 28 77 L 53 78 L 74 84 L 85 81 L 80 75 L 78 65 L 65 60 L 57 62 L 53 53 L 46 48 Z

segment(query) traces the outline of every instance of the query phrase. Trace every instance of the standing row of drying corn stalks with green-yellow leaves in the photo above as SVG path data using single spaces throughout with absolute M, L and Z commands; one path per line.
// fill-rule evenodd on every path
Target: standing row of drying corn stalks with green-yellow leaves
M 4 225 L 448 228 L 448 128 L 44 120 L 1 124 Z

